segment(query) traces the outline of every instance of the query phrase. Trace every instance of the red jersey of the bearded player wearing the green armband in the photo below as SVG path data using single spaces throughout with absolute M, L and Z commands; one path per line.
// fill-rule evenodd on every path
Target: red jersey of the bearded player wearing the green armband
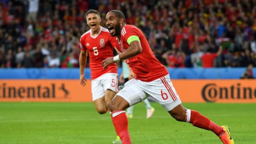
M 121 32 L 120 42 L 117 39 L 119 43 L 116 44 L 117 49 L 120 52 L 126 51 L 129 47 L 127 39 L 130 36 L 138 36 L 142 46 L 142 52 L 140 54 L 126 59 L 127 64 L 134 72 L 135 79 L 149 82 L 167 75 L 168 71 L 166 67 L 156 59 L 147 39 L 139 28 L 133 25 L 125 25 Z

